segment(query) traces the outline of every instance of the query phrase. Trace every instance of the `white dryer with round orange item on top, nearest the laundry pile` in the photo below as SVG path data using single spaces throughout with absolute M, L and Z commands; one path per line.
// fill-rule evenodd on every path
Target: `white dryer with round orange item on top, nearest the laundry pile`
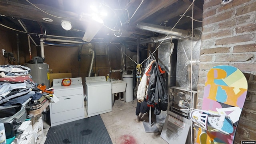
M 51 126 L 84 118 L 84 87 L 82 85 L 82 78 L 70 79 L 70 86 L 62 86 L 62 78 L 53 79 L 54 95 L 59 101 L 49 105 Z

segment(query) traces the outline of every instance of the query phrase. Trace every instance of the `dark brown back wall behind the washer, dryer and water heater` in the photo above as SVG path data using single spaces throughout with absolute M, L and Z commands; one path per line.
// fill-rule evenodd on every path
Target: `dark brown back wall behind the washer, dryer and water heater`
M 31 41 L 30 41 L 31 42 Z M 37 42 L 39 44 L 39 42 Z M 122 60 L 120 46 L 114 44 L 84 44 L 77 46 L 44 46 L 45 63 L 49 64 L 52 73 L 72 73 L 72 77 L 82 77 L 83 82 L 88 76 L 89 67 L 92 61 L 92 53 L 89 52 L 92 48 L 95 52 L 94 62 L 92 64 L 92 76 L 107 76 L 110 70 L 124 68 L 124 63 L 128 68 L 134 69 L 132 61 L 124 55 Z M 8 58 L 2 55 L 2 49 L 14 54 L 15 62 L 8 62 Z M 40 55 L 40 46 L 35 46 L 31 42 L 32 54 L 31 57 Z M 18 64 L 18 50 L 16 32 L 7 28 L 0 27 L 0 65 Z M 136 52 L 130 52 L 122 48 L 123 52 L 132 58 Z M 80 60 L 78 60 L 80 56 Z M 26 34 L 19 34 L 19 62 L 24 65 L 30 60 L 28 50 L 28 39 Z M 136 58 L 134 59 L 136 60 Z M 100 71 L 100 72 L 98 72 Z M 110 74 L 110 78 L 121 79 L 121 73 L 115 72 Z

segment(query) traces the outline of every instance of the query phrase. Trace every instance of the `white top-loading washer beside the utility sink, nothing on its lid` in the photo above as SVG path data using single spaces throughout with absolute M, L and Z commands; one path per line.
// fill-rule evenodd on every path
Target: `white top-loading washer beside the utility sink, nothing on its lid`
M 112 84 L 105 76 L 85 78 L 86 110 L 88 117 L 112 111 Z

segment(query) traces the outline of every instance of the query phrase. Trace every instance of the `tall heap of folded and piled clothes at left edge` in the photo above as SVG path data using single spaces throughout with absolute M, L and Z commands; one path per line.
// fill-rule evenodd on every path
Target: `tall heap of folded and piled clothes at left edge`
M 26 66 L 0 65 L 0 106 L 20 105 L 30 98 L 32 103 L 38 104 L 42 96 L 53 94 L 53 90 L 46 91 L 38 88 L 39 84 L 32 80 L 30 71 L 31 69 Z M 50 96 L 43 98 L 50 99 Z

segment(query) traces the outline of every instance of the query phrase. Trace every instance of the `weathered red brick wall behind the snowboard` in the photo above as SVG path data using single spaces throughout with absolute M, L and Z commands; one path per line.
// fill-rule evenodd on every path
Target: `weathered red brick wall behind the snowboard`
M 256 1 L 204 0 L 203 31 L 198 78 L 198 102 L 202 104 L 204 82 L 210 68 L 230 65 L 248 80 L 248 93 L 236 132 L 240 140 L 256 140 Z M 200 108 L 198 105 L 197 108 Z

